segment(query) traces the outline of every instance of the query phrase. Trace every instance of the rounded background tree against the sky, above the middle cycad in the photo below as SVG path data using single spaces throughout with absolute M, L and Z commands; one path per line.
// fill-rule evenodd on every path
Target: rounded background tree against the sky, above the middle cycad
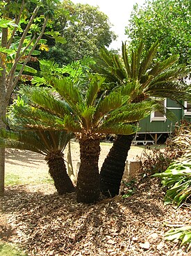
M 71 63 L 84 57 L 95 56 L 103 46 L 109 46 L 116 36 L 111 31 L 108 16 L 98 7 L 88 4 L 74 4 L 63 1 L 60 9 L 67 10 L 53 21 L 52 27 L 65 39 L 65 44 L 49 40 L 49 52 L 42 52 L 42 57 L 52 59 L 60 65 Z

